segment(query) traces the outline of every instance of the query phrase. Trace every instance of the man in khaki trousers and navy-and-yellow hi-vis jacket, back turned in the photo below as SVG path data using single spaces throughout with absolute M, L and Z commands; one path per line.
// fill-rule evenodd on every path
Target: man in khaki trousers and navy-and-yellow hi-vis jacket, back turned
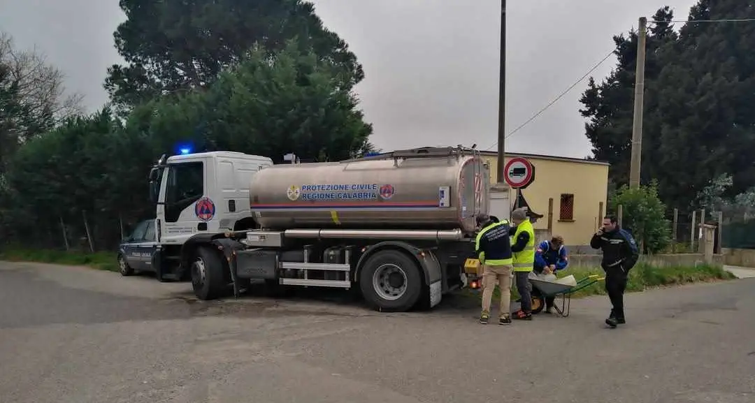
M 475 250 L 482 265 L 482 313 L 479 322 L 487 325 L 490 319 L 490 304 L 495 285 L 501 288 L 501 311 L 498 325 L 511 323 L 511 265 L 512 252 L 509 240 L 509 222 L 488 215 L 477 216 L 480 230 L 475 241 Z

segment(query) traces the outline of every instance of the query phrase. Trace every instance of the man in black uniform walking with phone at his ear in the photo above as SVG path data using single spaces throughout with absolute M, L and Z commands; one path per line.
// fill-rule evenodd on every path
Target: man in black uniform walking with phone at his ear
M 613 216 L 603 218 L 602 227 L 590 239 L 590 246 L 603 251 L 600 266 L 606 271 L 606 292 L 613 306 L 606 325 L 616 328 L 617 325 L 626 323 L 624 290 L 627 288 L 629 271 L 639 259 L 639 249 L 632 235 L 621 229 Z

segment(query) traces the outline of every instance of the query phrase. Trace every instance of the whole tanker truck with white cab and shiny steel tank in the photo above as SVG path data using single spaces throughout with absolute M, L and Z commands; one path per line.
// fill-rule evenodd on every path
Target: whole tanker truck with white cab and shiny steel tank
M 374 309 L 436 306 L 466 285 L 490 176 L 479 152 L 423 148 L 273 165 L 238 152 L 163 155 L 150 172 L 159 279 L 201 300 L 270 287 L 356 288 Z

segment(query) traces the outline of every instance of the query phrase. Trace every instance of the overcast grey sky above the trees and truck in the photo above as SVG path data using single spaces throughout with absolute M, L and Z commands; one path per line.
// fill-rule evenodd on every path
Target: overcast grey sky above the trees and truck
M 500 0 L 316 0 L 317 14 L 365 69 L 356 88 L 372 141 L 384 150 L 477 143 L 498 132 Z M 694 0 L 509 0 L 507 132 L 561 94 L 612 50 L 612 35 L 669 5 L 686 19 Z M 0 0 L 0 29 L 35 47 L 94 110 L 106 68 L 121 59 L 112 32 L 117 0 Z M 593 75 L 604 77 L 613 58 Z M 513 134 L 510 152 L 584 157 L 578 102 L 585 80 Z

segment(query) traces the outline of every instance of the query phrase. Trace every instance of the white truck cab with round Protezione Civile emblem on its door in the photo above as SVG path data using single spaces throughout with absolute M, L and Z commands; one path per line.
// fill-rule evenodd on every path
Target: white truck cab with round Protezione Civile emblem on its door
M 249 182 L 271 165 L 270 158 L 242 152 L 163 155 L 149 174 L 150 198 L 157 205 L 156 241 L 162 250 L 180 247 L 202 233 L 251 228 Z

